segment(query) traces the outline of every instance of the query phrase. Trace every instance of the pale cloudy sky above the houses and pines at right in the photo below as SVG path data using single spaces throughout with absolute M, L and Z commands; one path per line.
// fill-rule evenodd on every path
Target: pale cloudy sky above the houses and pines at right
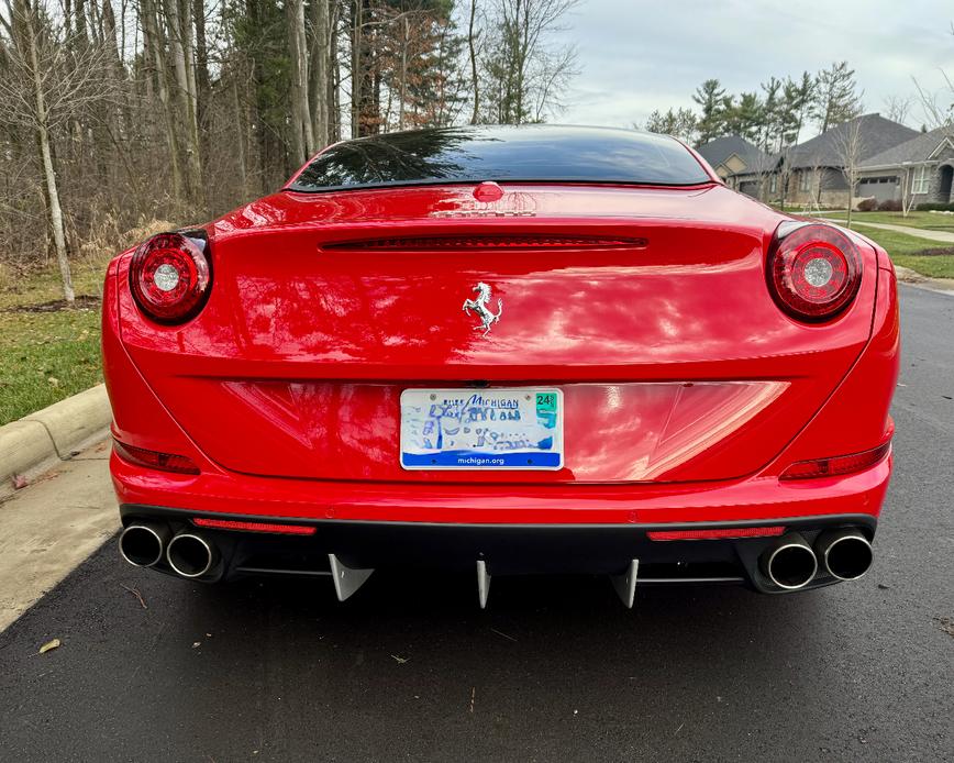
M 568 109 L 551 121 L 632 126 L 653 109 L 692 107 L 716 77 L 730 92 L 772 75 L 817 71 L 846 59 L 865 111 L 913 96 L 911 77 L 939 91 L 954 78 L 954 3 L 941 0 L 583 0 L 563 34 L 581 73 Z M 908 123 L 920 128 L 922 109 Z

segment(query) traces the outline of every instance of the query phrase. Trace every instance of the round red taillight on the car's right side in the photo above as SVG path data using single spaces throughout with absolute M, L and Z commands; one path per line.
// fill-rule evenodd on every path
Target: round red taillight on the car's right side
M 862 258 L 836 228 L 783 223 L 768 250 L 766 276 L 775 301 L 792 318 L 827 321 L 855 298 Z

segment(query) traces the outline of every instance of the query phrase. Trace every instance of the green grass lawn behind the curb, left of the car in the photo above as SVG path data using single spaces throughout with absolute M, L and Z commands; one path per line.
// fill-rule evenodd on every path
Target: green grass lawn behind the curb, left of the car
M 56 268 L 0 274 L 0 425 L 102 380 L 99 297 L 104 263 L 80 263 L 71 309 L 41 310 L 63 299 Z

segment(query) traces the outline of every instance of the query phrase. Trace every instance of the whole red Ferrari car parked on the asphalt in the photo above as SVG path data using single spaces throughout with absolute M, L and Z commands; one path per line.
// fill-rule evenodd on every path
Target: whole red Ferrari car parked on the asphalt
M 737 583 L 861 577 L 891 472 L 894 268 L 630 131 L 333 145 L 112 261 L 131 563 Z

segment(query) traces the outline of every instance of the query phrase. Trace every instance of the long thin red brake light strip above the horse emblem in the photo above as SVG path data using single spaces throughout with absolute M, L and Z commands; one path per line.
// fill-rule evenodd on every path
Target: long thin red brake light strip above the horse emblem
M 441 235 L 399 239 L 368 239 L 323 244 L 325 251 L 389 250 L 397 252 L 443 252 L 447 250 L 613 250 L 645 248 L 646 239 L 565 235 Z

